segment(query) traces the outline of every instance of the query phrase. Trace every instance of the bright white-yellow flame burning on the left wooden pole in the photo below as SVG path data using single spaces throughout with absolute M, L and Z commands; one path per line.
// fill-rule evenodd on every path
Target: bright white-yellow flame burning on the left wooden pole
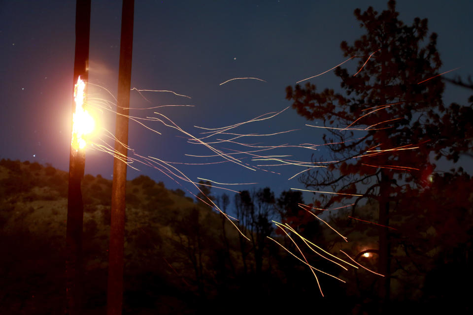
M 84 109 L 85 82 L 80 78 L 74 89 L 75 113 L 72 115 L 72 140 L 74 150 L 84 149 L 87 142 L 85 135 L 94 130 L 94 118 Z

